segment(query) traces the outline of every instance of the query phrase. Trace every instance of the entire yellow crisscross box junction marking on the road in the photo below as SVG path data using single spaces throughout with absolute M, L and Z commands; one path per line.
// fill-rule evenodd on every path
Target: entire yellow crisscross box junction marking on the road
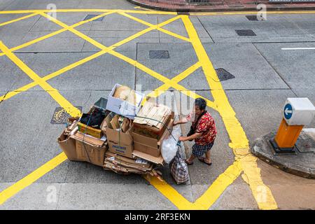
M 0 12 L 0 14 L 7 14 L 7 13 L 33 13 L 33 14 L 40 14 L 44 16 L 45 18 L 49 18 L 56 24 L 60 25 L 61 27 L 64 27 L 64 29 L 60 29 L 59 31 L 55 31 L 52 34 L 48 34 L 46 36 L 43 36 L 41 38 L 38 38 L 34 41 L 30 41 L 28 43 L 25 43 L 24 45 L 20 45 L 15 48 L 8 49 L 5 45 L 1 44 L 1 49 L 3 50 L 3 53 L 1 55 L 6 54 L 10 59 L 15 62 L 25 73 L 27 73 L 33 80 L 34 83 L 30 83 L 29 85 L 25 85 L 23 87 L 20 87 L 18 90 L 15 90 L 13 92 L 9 92 L 6 97 L 0 97 L 0 101 L 8 99 L 12 97 L 15 94 L 18 94 L 18 92 L 24 92 L 28 90 L 31 87 L 34 87 L 36 85 L 41 85 L 41 87 L 46 90 L 53 99 L 55 99 L 62 107 L 64 108 L 74 108 L 69 102 L 62 97 L 61 94 L 55 89 L 53 89 L 48 83 L 45 81 L 53 78 L 55 76 L 59 76 L 61 73 L 64 73 L 65 71 L 69 71 L 70 69 L 73 69 L 73 67 L 76 67 L 80 64 L 83 64 L 87 61 L 90 61 L 91 59 L 94 59 L 95 57 L 99 57 L 100 55 L 103 55 L 106 52 L 109 52 L 111 55 L 114 55 L 120 59 L 123 59 L 125 62 L 128 62 L 134 66 L 136 66 L 138 69 L 141 69 L 142 71 L 145 71 L 149 75 L 158 78 L 158 80 L 161 80 L 163 84 L 161 87 L 159 87 L 157 90 L 153 91 L 151 94 L 153 97 L 157 97 L 158 90 L 167 90 L 169 87 L 174 87 L 176 90 L 179 90 L 183 92 L 184 94 L 187 94 L 190 97 L 197 98 L 201 97 L 198 94 L 195 94 L 194 92 L 191 92 L 190 90 L 186 90 L 185 87 L 179 85 L 178 83 L 189 76 L 193 71 L 198 69 L 200 66 L 202 66 L 202 69 L 204 70 L 205 76 L 208 80 L 208 83 L 211 87 L 211 93 L 213 94 L 213 97 L 215 99 L 215 102 L 207 100 L 207 106 L 215 109 L 218 111 L 223 118 L 223 122 L 225 123 L 225 126 L 228 130 L 231 143 L 230 147 L 233 149 L 236 157 L 236 161 L 233 165 L 228 167 L 228 169 L 225 170 L 223 174 L 218 176 L 218 179 L 212 183 L 210 188 L 200 197 L 196 202 L 188 202 L 183 196 L 181 196 L 177 191 L 172 188 L 172 186 L 169 186 L 169 184 L 165 182 L 160 182 L 156 178 L 151 178 L 146 176 L 146 179 L 150 181 L 150 183 L 157 188 L 160 193 L 165 195 L 172 203 L 176 205 L 179 209 L 209 209 L 211 205 L 216 202 L 218 197 L 223 193 L 225 188 L 227 188 L 237 177 L 239 174 L 241 174 L 242 171 L 244 171 L 244 174 L 242 175 L 244 181 L 248 183 L 250 186 L 253 195 L 255 197 L 255 200 L 258 202 L 258 207 L 260 209 L 276 209 L 276 202 L 274 201 L 272 197 L 272 193 L 270 192 L 269 188 L 265 186 L 262 183 L 261 177 L 260 177 L 260 170 L 257 167 L 256 158 L 254 158 L 252 155 L 248 154 L 248 140 L 246 138 L 246 134 L 244 133 L 244 130 L 242 129 L 240 123 L 238 122 L 237 118 L 235 118 L 235 112 L 233 111 L 232 107 L 230 106 L 228 102 L 228 98 L 225 95 L 225 92 L 223 90 L 223 87 L 221 86 L 220 81 L 218 80 L 218 77 L 216 76 L 216 72 L 214 71 L 214 68 L 209 60 L 209 57 L 207 56 L 207 53 L 204 51 L 204 48 L 202 46 L 202 43 L 200 42 L 199 37 L 197 36 L 197 32 L 195 31 L 195 28 L 193 27 L 193 24 L 190 22 L 187 15 L 181 15 L 180 18 L 183 20 L 183 23 L 186 27 L 186 31 L 188 31 L 189 37 L 186 38 L 183 36 L 180 36 L 178 34 L 174 34 L 172 31 L 167 31 L 165 29 L 162 29 L 163 25 L 167 25 L 169 22 L 173 22 L 174 20 L 177 20 L 179 16 L 174 17 L 170 20 L 167 20 L 166 22 L 162 22 L 160 25 L 151 25 L 148 22 L 145 22 L 144 20 L 140 20 L 138 18 L 134 18 L 131 15 L 128 15 L 126 13 L 140 13 L 140 14 L 160 14 L 160 15 L 176 15 L 176 13 L 169 13 L 169 12 L 160 12 L 160 11 L 139 11 L 139 10 L 57 10 L 57 12 L 104 12 L 102 15 L 97 16 L 97 18 L 102 17 L 104 15 L 108 15 L 111 13 L 119 13 L 120 15 L 124 15 L 127 18 L 130 18 L 132 20 L 135 20 L 137 22 L 141 22 L 144 25 L 148 25 L 148 28 L 144 31 L 140 31 L 137 34 L 134 34 L 130 36 L 129 38 L 126 38 L 123 41 L 120 41 L 111 47 L 107 48 L 106 46 L 102 45 L 101 43 L 98 43 L 97 41 L 94 41 L 89 36 L 86 36 L 85 34 L 80 33 L 76 29 L 73 29 L 74 27 L 78 27 L 78 25 L 82 25 L 85 22 L 90 22 L 92 20 L 95 20 L 97 18 L 92 18 L 87 21 L 81 21 L 78 22 L 76 25 L 68 26 L 64 23 L 60 22 L 59 20 L 55 20 L 54 18 L 51 18 L 49 15 L 45 14 L 49 12 L 49 10 L 20 10 L 20 11 L 6 11 L 6 12 Z M 32 14 L 30 14 L 32 15 Z M 28 15 L 30 17 L 30 15 Z M 231 14 L 232 15 L 232 14 Z M 25 17 L 24 17 L 25 18 Z M 19 18 L 16 21 L 8 21 L 7 24 L 12 22 L 17 22 L 19 20 L 22 20 L 24 18 Z M 182 40 L 191 42 L 193 44 L 193 48 L 196 51 L 197 57 L 199 58 L 200 62 L 197 62 L 193 66 L 190 66 L 188 69 L 180 73 L 175 78 L 172 78 L 170 80 L 169 78 L 166 78 L 165 76 L 162 76 L 159 73 L 156 73 L 155 71 L 149 69 L 148 67 L 144 66 L 143 64 L 140 64 L 139 62 L 130 59 L 129 57 L 126 57 L 125 55 L 122 55 L 118 52 L 113 51 L 113 48 L 116 48 L 118 45 L 122 45 L 123 43 L 127 43 L 128 41 L 131 41 L 134 38 L 137 38 L 138 36 L 141 36 L 142 34 L 151 31 L 153 29 L 158 29 L 160 31 L 164 31 L 165 33 L 174 36 L 176 38 L 181 38 Z M 88 41 L 92 43 L 93 45 L 96 45 L 98 48 L 102 49 L 101 51 L 97 52 L 94 55 L 91 55 L 89 57 L 86 57 L 85 59 L 81 59 L 78 62 L 75 62 L 69 66 L 66 66 L 64 69 L 60 69 L 59 71 L 56 71 L 55 73 L 51 73 L 48 76 L 45 76 L 44 78 L 39 77 L 34 71 L 29 69 L 29 67 L 24 64 L 18 57 L 16 57 L 12 51 L 18 50 L 20 48 L 24 48 L 27 45 L 31 45 L 33 43 L 37 43 L 38 41 L 42 41 L 45 38 L 49 38 L 50 36 L 54 36 L 56 34 L 61 33 L 62 31 L 69 30 L 73 32 L 73 34 L 76 34 L 80 36 L 81 38 L 85 39 L 85 41 Z M 160 94 L 160 93 L 159 93 Z M 204 98 L 204 97 L 202 97 Z M 204 98 L 205 99 L 205 98 Z M 224 102 L 224 104 L 223 104 Z M 72 106 L 72 107 L 71 107 Z M 74 108 L 76 109 L 76 108 Z M 70 111 L 70 113 L 73 113 Z M 239 131 L 236 133 L 232 133 L 235 131 Z M 241 139 L 241 141 L 239 141 Z M 59 159 L 57 159 L 59 157 Z M 29 186 L 31 183 L 36 181 L 38 178 L 49 172 L 51 169 L 54 169 L 57 165 L 59 165 L 61 162 L 66 160 L 64 153 L 61 153 L 58 157 L 50 160 L 42 167 L 36 169 L 36 171 L 32 172 L 28 176 L 26 176 L 24 179 L 21 179 L 17 183 L 13 184 L 13 186 L 10 186 L 9 188 L 6 188 L 6 190 L 3 190 L 0 193 L 0 204 L 8 200 L 8 198 L 12 197 L 16 193 L 18 193 L 23 188 Z M 62 158 L 62 159 L 60 159 Z M 53 165 L 52 165 L 53 164 Z M 260 191 L 261 187 L 264 188 L 265 191 L 267 191 L 267 200 L 261 201 L 260 197 Z

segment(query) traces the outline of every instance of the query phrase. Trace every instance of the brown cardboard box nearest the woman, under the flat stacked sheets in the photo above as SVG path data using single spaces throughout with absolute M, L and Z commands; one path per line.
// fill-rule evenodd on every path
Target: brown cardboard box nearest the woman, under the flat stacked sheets
M 167 129 L 165 130 L 164 134 L 162 135 L 160 141 L 155 138 L 146 137 L 141 134 L 133 132 L 132 127 L 132 137 L 134 139 L 134 150 L 146 153 L 148 155 L 152 155 L 154 157 L 160 157 L 161 155 L 161 146 L 162 141 L 169 137 L 169 132 L 172 132 L 174 120 L 171 119 L 169 124 L 167 125 Z

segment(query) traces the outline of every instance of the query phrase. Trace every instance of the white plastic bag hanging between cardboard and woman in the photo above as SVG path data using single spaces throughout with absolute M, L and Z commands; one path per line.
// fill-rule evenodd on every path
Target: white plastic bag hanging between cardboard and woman
M 174 138 L 173 138 L 173 137 Z M 164 161 L 169 164 L 173 160 L 177 152 L 177 142 L 179 141 L 179 137 L 181 136 L 181 127 L 176 125 L 173 128 L 172 135 L 169 135 L 167 139 L 162 142 L 162 157 Z

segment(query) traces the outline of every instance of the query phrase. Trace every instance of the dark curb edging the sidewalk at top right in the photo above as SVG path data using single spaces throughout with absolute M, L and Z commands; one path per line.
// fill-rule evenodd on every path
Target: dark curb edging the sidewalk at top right
M 170 11 L 170 12 L 185 12 L 185 13 L 201 13 L 201 12 L 240 12 L 240 11 L 255 11 L 257 8 L 218 8 L 218 9 L 209 9 L 209 8 L 163 8 L 163 7 L 158 7 L 158 6 L 151 6 L 146 3 L 141 3 L 136 0 L 127 0 L 130 3 L 133 3 L 137 6 L 142 6 L 145 8 L 151 8 L 155 10 L 163 10 L 163 11 Z M 271 11 L 279 11 L 279 10 L 315 10 L 315 6 L 310 6 L 310 7 L 272 7 L 272 8 L 267 8 L 267 10 Z

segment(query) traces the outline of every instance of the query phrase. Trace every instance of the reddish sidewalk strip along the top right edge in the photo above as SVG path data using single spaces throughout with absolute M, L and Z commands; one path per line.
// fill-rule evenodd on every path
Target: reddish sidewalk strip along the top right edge
M 314 10 L 313 3 L 270 3 L 267 0 L 253 1 L 218 1 L 209 3 L 188 3 L 188 0 L 127 0 L 139 6 L 156 10 L 182 11 L 182 12 L 211 12 L 211 11 L 236 11 L 257 10 L 258 3 L 264 3 L 267 10 Z

